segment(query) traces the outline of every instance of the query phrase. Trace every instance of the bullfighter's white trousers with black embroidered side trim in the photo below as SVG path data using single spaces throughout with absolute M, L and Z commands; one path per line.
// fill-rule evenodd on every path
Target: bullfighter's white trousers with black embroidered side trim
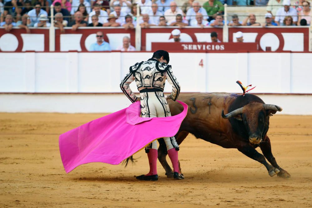
M 144 92 L 140 93 L 141 96 L 141 117 L 168 117 L 171 116 L 169 105 L 163 92 Z M 161 129 L 159 129 L 161 131 Z M 167 150 L 175 148 L 179 150 L 178 143 L 174 137 L 163 138 Z M 145 152 L 149 152 L 148 149 L 157 149 L 156 140 L 150 143 L 146 148 Z

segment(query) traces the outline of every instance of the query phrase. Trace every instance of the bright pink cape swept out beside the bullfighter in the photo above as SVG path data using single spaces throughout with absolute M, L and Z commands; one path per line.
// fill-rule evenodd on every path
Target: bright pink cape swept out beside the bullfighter
M 118 165 L 149 143 L 173 137 L 185 118 L 182 113 L 163 118 L 141 118 L 140 102 L 99 119 L 85 123 L 60 135 L 59 147 L 66 173 L 89 162 Z

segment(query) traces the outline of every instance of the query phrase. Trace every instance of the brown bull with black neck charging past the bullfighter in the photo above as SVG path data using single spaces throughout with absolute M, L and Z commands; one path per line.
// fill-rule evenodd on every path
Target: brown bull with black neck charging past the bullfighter
M 223 148 L 238 149 L 244 155 L 263 164 L 271 177 L 276 174 L 279 177 L 290 177 L 290 174 L 277 164 L 267 136 L 269 118 L 277 111 L 282 111 L 281 107 L 265 104 L 253 94 L 243 96 L 230 93 L 193 93 L 181 94 L 178 99 L 188 104 L 188 114 L 175 135 L 179 145 L 191 133 L 196 138 Z M 183 110 L 183 107 L 173 100 L 168 100 L 168 104 L 172 116 Z M 166 145 L 162 139 L 158 141 L 158 160 L 167 177 L 173 177 L 166 161 Z M 256 151 L 257 147 L 260 147 L 263 155 Z M 181 171 L 180 163 L 179 168 Z

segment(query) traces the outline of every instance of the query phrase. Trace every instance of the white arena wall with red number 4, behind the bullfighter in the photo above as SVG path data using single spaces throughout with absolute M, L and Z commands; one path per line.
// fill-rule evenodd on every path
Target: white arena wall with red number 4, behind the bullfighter
M 1 53 L 0 112 L 99 113 L 125 108 L 120 80 L 150 52 Z M 201 62 L 203 65 L 200 65 Z M 236 92 L 257 86 L 280 114 L 312 115 L 312 53 L 170 53 L 182 92 Z M 134 83 L 131 85 L 135 89 Z M 165 87 L 170 92 L 170 86 Z M 134 90 L 134 92 L 138 92 Z M 114 103 L 111 101 L 114 100 Z

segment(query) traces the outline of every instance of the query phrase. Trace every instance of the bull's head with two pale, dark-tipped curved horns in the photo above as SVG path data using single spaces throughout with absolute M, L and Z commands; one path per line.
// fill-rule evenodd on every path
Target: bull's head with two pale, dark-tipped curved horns
M 282 111 L 282 108 L 272 104 L 250 103 L 226 115 L 222 110 L 221 116 L 224 119 L 235 118 L 243 122 L 249 142 L 259 144 L 269 129 L 269 116 L 276 111 Z

